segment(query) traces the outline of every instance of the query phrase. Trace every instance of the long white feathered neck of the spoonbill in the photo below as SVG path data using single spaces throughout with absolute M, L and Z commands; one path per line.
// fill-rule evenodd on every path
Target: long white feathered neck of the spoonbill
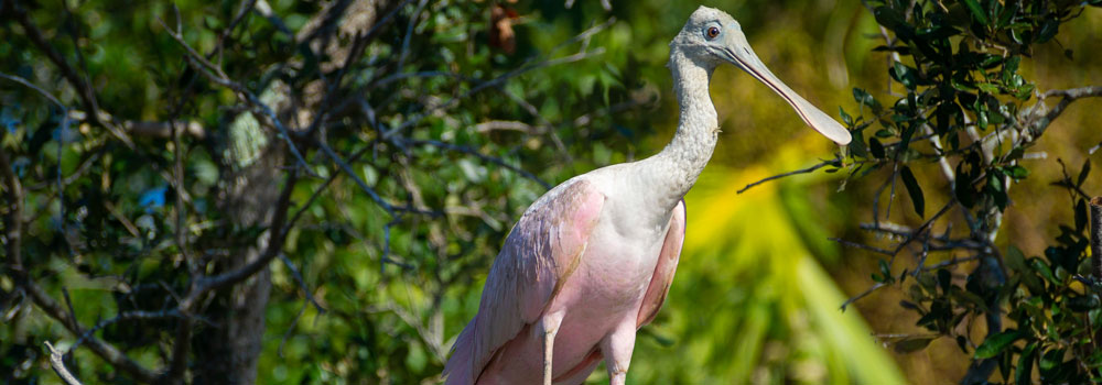
M 696 63 L 680 48 L 671 47 L 669 67 L 681 107 L 678 131 L 666 148 L 642 163 L 649 163 L 647 182 L 659 195 L 660 205 L 672 210 L 707 165 L 720 130 L 715 106 L 707 94 L 714 66 Z

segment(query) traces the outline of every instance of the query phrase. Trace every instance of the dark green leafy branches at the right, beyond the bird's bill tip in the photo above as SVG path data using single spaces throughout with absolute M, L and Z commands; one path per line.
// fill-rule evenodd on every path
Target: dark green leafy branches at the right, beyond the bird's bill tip
M 1011 187 L 1030 175 L 1020 163 L 1026 151 L 1068 103 L 1102 95 L 1093 88 L 1037 91 L 1019 72 L 1023 59 L 1052 42 L 1061 24 L 1102 2 L 886 0 L 865 6 L 886 31 L 880 36 L 886 44 L 875 51 L 890 57 L 887 73 L 899 94 L 882 102 L 853 89 L 857 113 L 841 111 L 855 136 L 850 177 L 885 169 L 888 180 L 874 204 L 879 206 L 888 186 L 894 195 L 899 178 L 923 219 L 914 229 L 885 226 L 880 218 L 866 228 L 899 238 L 894 251 L 882 251 L 890 261 L 908 245 L 920 249 L 916 266 L 893 273 L 896 266 L 880 261 L 873 280 L 908 287 L 909 298 L 900 305 L 920 316 L 917 324 L 955 340 L 975 360 L 964 383 L 986 382 L 996 366 L 1004 381 L 1030 383 L 1035 364 L 1045 383 L 1085 383 L 1102 375 L 1096 353 L 1102 306 L 1092 284 L 1102 277 L 1084 277 L 1090 275 L 1089 229 L 1081 186 L 1090 161 L 1077 178 L 1065 173 L 1056 184 L 1071 194 L 1076 226 L 1060 226 L 1044 257 L 1026 258 L 1014 240 L 1005 248 L 994 244 Z M 1047 108 L 1044 99 L 1056 96 L 1062 97 L 1060 106 Z M 930 217 L 928 202 L 943 206 Z M 944 223 L 943 235 L 933 229 L 939 223 Z M 938 252 L 951 258 L 929 264 L 928 255 Z M 964 275 L 949 270 L 963 263 L 975 268 Z M 1004 317 L 1013 321 L 1009 328 L 1004 329 Z M 968 332 L 980 320 L 985 338 Z M 894 344 L 910 352 L 929 339 L 919 334 Z

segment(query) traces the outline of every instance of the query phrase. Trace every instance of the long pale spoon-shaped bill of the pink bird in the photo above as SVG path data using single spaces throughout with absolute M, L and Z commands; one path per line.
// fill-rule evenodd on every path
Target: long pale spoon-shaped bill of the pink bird
M 831 119 L 825 112 L 815 108 L 799 94 L 796 94 L 788 85 L 780 81 L 776 75 L 773 75 L 769 68 L 754 53 L 754 50 L 750 48 L 745 36 L 742 36 L 739 33 L 733 40 L 733 44 L 728 44 L 726 50 L 727 59 L 732 64 L 750 74 L 754 78 L 769 86 L 769 88 L 773 88 L 789 105 L 792 105 L 792 108 L 796 109 L 796 112 L 799 113 L 800 118 L 808 125 L 819 131 L 820 134 L 841 145 L 850 143 L 850 132 L 842 128 L 842 124 L 839 124 L 838 121 Z

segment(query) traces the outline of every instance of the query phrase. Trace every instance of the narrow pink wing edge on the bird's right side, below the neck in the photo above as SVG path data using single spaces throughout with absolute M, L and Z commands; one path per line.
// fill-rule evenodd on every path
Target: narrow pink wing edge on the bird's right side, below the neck
M 685 201 L 682 200 L 673 208 L 673 216 L 670 217 L 670 230 L 666 232 L 666 242 L 658 255 L 658 266 L 655 267 L 655 275 L 650 278 L 647 295 L 642 297 L 642 306 L 639 307 L 638 328 L 650 323 L 662 308 L 666 295 L 670 293 L 670 285 L 673 284 L 673 273 L 678 270 L 684 240 Z

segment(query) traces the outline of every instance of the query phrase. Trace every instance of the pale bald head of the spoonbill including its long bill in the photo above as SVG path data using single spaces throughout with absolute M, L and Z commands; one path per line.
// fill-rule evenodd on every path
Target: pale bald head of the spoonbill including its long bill
M 808 125 L 838 144 L 850 143 L 850 132 L 834 119 L 796 94 L 761 63 L 743 34 L 742 26 L 726 12 L 700 7 L 670 43 L 688 59 L 707 69 L 730 63 L 769 86 L 796 109 Z

